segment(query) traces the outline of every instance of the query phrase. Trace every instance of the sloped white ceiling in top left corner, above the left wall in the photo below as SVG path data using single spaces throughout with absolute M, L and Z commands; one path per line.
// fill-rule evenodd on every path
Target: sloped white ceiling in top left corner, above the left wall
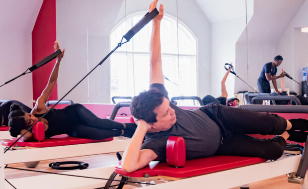
M 0 0 L 0 33 L 30 31 L 43 0 Z

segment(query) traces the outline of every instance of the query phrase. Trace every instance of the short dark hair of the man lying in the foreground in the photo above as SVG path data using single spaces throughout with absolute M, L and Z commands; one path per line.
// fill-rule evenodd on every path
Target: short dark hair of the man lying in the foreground
M 147 123 L 155 123 L 154 109 L 162 103 L 164 95 L 157 89 L 150 89 L 134 96 L 130 105 L 131 113 L 136 119 L 143 119 Z

